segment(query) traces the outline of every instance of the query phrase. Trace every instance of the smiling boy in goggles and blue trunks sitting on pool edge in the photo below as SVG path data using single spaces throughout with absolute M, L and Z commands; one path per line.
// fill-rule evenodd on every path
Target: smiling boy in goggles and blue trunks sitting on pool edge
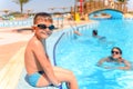
M 28 82 L 33 87 L 59 87 L 66 82 L 69 89 L 79 89 L 74 73 L 68 69 L 52 66 L 45 50 L 45 40 L 54 29 L 52 17 L 45 12 L 39 12 L 33 19 L 33 37 L 27 44 L 24 52 L 24 66 L 28 73 Z

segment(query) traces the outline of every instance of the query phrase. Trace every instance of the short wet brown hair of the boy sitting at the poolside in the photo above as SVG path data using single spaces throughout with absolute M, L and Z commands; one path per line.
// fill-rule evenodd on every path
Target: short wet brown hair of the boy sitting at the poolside
M 37 20 L 38 20 L 39 17 L 42 17 L 42 18 L 44 18 L 45 20 L 49 20 L 50 22 L 52 22 L 52 17 L 51 17 L 50 13 L 39 12 L 39 13 L 37 13 L 37 14 L 34 16 L 34 18 L 33 18 L 33 23 L 34 23 L 34 24 L 35 24 L 35 22 L 37 22 Z

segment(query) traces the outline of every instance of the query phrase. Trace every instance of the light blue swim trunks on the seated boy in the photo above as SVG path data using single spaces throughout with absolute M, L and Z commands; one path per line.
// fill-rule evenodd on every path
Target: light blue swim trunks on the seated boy
M 41 75 L 44 73 L 43 71 L 39 71 L 39 72 L 34 72 L 32 75 L 28 76 L 28 82 L 29 85 L 31 85 L 32 87 L 37 87 L 37 83 L 41 77 Z

